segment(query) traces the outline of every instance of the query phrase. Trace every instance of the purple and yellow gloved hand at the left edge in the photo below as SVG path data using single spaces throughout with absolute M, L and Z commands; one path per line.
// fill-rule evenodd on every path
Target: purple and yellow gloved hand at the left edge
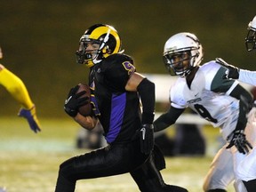
M 33 106 L 33 108 L 30 108 L 30 109 L 20 108 L 18 116 L 24 117 L 28 120 L 28 124 L 30 126 L 30 129 L 33 132 L 41 132 L 40 124 L 39 124 L 39 121 L 36 117 L 36 107 L 35 107 L 35 105 Z

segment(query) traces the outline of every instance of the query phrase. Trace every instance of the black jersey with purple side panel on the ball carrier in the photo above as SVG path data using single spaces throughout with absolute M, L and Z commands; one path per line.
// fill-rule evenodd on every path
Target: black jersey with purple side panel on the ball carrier
M 89 83 L 95 115 L 100 119 L 108 143 L 131 140 L 140 128 L 138 92 L 125 91 L 129 76 L 135 70 L 132 58 L 120 53 L 108 56 L 91 70 Z

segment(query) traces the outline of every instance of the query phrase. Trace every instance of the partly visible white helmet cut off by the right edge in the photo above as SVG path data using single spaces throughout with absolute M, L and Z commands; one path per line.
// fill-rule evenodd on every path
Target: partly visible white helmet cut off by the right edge
M 245 45 L 248 52 L 256 50 L 256 16 L 248 24 L 248 34 L 245 38 Z

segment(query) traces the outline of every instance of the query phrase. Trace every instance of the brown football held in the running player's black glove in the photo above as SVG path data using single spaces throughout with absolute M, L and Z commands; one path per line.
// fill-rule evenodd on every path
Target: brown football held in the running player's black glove
M 80 98 L 84 98 L 84 97 L 89 98 L 89 102 L 87 104 L 85 104 L 84 106 L 81 106 L 78 109 L 78 112 L 83 116 L 90 116 L 92 114 L 90 86 L 88 84 L 78 84 L 78 85 L 79 85 L 79 89 L 77 90 L 76 93 L 85 91 L 85 94 L 82 95 Z

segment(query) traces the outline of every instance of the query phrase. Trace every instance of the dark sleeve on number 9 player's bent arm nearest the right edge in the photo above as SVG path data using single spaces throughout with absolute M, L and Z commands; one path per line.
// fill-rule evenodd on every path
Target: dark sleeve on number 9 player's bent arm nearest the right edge
M 247 124 L 246 115 L 252 108 L 252 95 L 250 92 L 247 92 L 240 84 L 237 84 L 235 89 L 230 92 L 230 96 L 239 100 L 239 116 L 236 124 L 236 130 L 244 130 Z

